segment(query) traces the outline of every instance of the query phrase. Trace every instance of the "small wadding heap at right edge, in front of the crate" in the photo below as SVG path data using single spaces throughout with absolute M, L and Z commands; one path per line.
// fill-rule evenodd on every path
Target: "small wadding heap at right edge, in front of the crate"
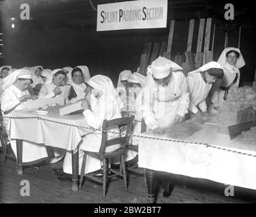
M 256 127 L 251 127 L 251 130 L 242 132 L 234 139 L 234 142 L 236 142 L 236 148 L 239 148 L 239 145 L 241 145 L 241 148 L 242 145 L 245 145 L 249 150 L 256 151 Z

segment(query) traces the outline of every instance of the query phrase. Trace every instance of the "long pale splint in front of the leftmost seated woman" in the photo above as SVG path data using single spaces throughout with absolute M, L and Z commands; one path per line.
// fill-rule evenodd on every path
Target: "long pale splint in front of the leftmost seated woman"
M 37 99 L 37 100 L 27 100 L 27 110 L 39 109 L 46 105 L 57 103 L 59 105 L 64 104 L 64 98 L 54 97 L 54 98 L 46 98 L 46 99 Z

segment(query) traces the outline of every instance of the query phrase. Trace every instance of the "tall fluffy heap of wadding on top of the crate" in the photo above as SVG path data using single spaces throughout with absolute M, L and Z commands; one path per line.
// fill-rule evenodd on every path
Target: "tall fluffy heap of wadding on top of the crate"
M 220 110 L 240 111 L 253 106 L 256 109 L 256 92 L 253 87 L 232 87 L 227 94 L 227 100 L 223 103 Z

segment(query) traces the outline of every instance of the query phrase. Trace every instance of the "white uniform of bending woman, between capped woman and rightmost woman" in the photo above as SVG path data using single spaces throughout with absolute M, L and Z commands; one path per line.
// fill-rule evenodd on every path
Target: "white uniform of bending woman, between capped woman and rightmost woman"
M 186 79 L 190 94 L 189 111 L 197 113 L 198 106 L 200 111 L 206 112 L 206 97 L 210 92 L 212 84 L 204 81 L 201 73 L 189 74 Z

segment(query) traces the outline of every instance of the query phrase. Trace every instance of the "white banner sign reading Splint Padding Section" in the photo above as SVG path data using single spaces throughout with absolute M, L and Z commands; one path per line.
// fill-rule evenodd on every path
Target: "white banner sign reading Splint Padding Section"
M 97 31 L 165 28 L 167 3 L 167 0 L 140 0 L 98 5 Z

